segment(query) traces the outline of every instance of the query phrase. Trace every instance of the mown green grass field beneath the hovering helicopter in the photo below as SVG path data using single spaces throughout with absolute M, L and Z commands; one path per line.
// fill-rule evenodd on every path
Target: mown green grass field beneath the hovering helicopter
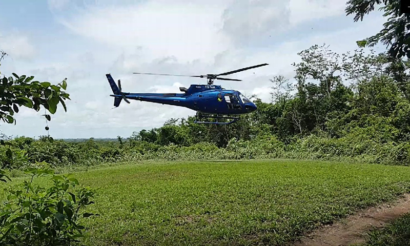
M 282 245 L 410 190 L 408 167 L 252 160 L 79 172 L 99 188 L 89 245 Z

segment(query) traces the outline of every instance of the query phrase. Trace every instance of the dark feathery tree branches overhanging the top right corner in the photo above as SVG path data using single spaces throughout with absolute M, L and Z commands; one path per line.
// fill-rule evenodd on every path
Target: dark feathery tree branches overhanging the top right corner
M 403 0 L 402 0 L 403 1 Z M 355 14 L 354 22 L 363 20 L 365 14 L 372 12 L 375 5 L 384 5 L 380 10 L 384 11 L 383 16 L 389 16 L 384 28 L 371 37 L 360 40 L 357 44 L 360 47 L 374 46 L 379 42 L 389 47 L 389 54 L 393 57 L 410 58 L 410 14 L 401 13 L 400 1 L 398 0 L 350 0 L 345 9 L 347 15 Z

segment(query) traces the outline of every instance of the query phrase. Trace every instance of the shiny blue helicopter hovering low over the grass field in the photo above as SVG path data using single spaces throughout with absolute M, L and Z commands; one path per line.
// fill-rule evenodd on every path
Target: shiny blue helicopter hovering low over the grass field
M 238 115 L 247 114 L 257 109 L 256 105 L 248 98 L 236 90 L 226 90 L 219 85 L 214 85 L 214 80 L 242 81 L 240 79 L 223 78 L 219 76 L 229 75 L 248 69 L 254 69 L 268 64 L 260 64 L 252 67 L 241 68 L 238 70 L 207 75 L 176 75 L 176 74 L 157 74 L 157 73 L 133 73 L 146 75 L 164 76 L 185 76 L 199 77 L 208 79 L 207 85 L 191 85 L 188 89 L 179 87 L 183 93 L 130 93 L 122 92 L 121 81 L 118 79 L 118 86 L 115 84 L 111 74 L 106 74 L 108 82 L 114 94 L 114 107 L 118 107 L 121 100 L 130 103 L 128 99 L 148 101 L 151 103 L 166 104 L 173 106 L 186 107 L 196 111 L 195 121 L 197 124 L 216 124 L 228 125 L 239 120 Z M 236 117 L 235 117 L 236 116 Z M 204 121 L 203 119 L 215 119 L 214 121 Z M 226 120 L 229 120 L 228 122 Z

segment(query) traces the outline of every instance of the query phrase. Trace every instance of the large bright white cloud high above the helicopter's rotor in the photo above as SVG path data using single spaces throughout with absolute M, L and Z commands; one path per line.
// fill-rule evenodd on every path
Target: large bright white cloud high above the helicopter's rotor
M 121 49 L 144 47 L 152 57 L 212 58 L 227 48 L 218 32 L 221 9 L 207 3 L 147 2 L 87 8 L 61 22 L 73 32 Z

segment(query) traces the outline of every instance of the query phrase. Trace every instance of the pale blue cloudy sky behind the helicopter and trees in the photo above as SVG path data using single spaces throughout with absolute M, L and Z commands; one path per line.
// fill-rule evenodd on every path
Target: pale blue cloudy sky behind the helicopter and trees
M 375 11 L 354 23 L 345 7 L 343 0 L 0 0 L 0 49 L 9 54 L 0 71 L 52 84 L 67 78 L 67 112 L 59 105 L 48 122 L 54 138 L 128 137 L 195 111 L 136 100 L 113 109 L 106 73 L 124 92 L 179 93 L 206 80 L 132 73 L 216 74 L 268 63 L 222 86 L 269 102 L 269 79 L 292 79 L 298 52 L 315 44 L 353 51 L 385 22 Z M 44 113 L 22 107 L 17 124 L 0 122 L 0 131 L 47 135 Z

